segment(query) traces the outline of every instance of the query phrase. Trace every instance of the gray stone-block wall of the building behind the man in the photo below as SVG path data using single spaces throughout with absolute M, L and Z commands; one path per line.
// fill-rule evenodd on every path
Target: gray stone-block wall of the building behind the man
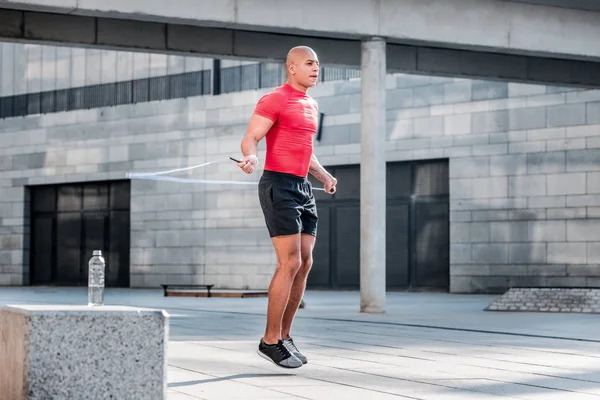
M 395 75 L 388 161 L 449 158 L 452 292 L 598 286 L 600 91 Z M 121 179 L 239 154 L 248 91 L 0 121 L 0 284 L 27 283 L 24 185 Z M 360 81 L 311 91 L 324 165 L 360 161 Z M 261 151 L 264 143 L 261 144 Z M 256 181 L 233 163 L 179 176 Z M 255 186 L 132 182 L 131 282 L 266 289 Z

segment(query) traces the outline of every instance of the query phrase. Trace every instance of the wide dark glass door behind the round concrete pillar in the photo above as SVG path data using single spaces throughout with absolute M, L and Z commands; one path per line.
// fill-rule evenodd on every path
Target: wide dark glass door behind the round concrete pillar
M 319 231 L 308 276 L 311 288 L 360 287 L 360 167 L 328 167 L 338 192 L 315 192 Z M 313 185 L 322 184 L 310 178 Z M 386 286 L 448 290 L 448 161 L 388 163 Z

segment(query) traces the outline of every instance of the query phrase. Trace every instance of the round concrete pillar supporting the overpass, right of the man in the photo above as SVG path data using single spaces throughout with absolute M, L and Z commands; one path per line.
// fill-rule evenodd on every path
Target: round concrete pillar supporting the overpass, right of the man
M 385 310 L 385 77 L 382 38 L 361 44 L 360 311 Z

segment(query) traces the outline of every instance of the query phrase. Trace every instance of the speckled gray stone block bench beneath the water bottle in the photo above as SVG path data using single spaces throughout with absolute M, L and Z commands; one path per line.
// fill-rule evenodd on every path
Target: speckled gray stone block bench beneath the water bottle
M 0 394 L 165 399 L 169 315 L 122 306 L 0 308 Z

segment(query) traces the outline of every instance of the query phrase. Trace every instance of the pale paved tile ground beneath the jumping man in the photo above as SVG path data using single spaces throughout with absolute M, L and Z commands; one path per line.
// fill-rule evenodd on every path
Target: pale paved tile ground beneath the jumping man
M 496 296 L 390 293 L 360 314 L 357 292 L 308 292 L 296 369 L 256 355 L 266 299 L 109 290 L 107 304 L 171 315 L 169 400 L 598 399 L 600 317 L 494 313 Z M 85 289 L 0 288 L 0 304 L 85 304 Z

